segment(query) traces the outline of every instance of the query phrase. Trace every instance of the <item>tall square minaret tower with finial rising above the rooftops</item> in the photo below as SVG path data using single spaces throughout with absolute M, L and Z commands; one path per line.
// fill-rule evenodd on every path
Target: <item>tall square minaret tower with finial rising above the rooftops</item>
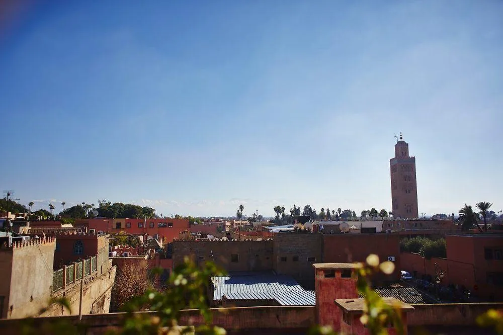
M 417 210 L 417 184 L 415 157 L 408 154 L 408 143 L 400 140 L 395 144 L 395 156 L 389 160 L 391 174 L 391 208 L 393 217 L 413 219 L 419 217 Z

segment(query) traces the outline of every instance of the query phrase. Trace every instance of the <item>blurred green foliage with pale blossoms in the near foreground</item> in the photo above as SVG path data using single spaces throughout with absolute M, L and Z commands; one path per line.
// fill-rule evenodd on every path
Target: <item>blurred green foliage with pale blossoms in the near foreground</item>
M 387 334 L 386 325 L 392 324 L 397 334 L 406 333 L 405 326 L 401 319 L 400 310 L 395 306 L 385 303 L 379 295 L 374 292 L 370 285 L 370 278 L 382 272 L 391 274 L 394 271 L 392 262 L 379 263 L 377 255 L 369 255 L 366 263 L 358 263 L 357 287 L 359 293 L 365 297 L 364 313 L 360 321 L 366 325 L 370 334 Z M 120 324 L 111 327 L 107 332 L 110 335 L 133 335 L 133 334 L 174 334 L 188 333 L 196 331 L 201 334 L 226 333 L 225 329 L 212 325 L 212 311 L 208 308 L 206 287 L 212 276 L 222 276 L 223 272 L 215 267 L 211 262 L 204 264 L 202 268 L 197 267 L 188 258 L 184 264 L 178 266 L 167 281 L 167 289 L 164 292 L 157 292 L 149 289 L 143 295 L 133 297 L 125 305 L 125 314 L 120 319 Z M 51 301 L 69 310 L 67 300 L 57 299 Z M 189 320 L 184 320 L 184 325 L 179 325 L 183 309 L 197 309 L 200 314 L 198 318 L 201 325 L 189 327 Z M 43 313 L 47 308 L 41 310 Z M 138 311 L 150 311 L 141 313 Z M 25 335 L 43 334 L 83 334 L 86 333 L 85 323 L 72 324 L 69 320 L 61 318 L 55 322 L 35 323 L 41 319 L 28 318 L 23 321 L 22 333 Z M 202 322 L 201 322 L 202 321 Z M 489 310 L 477 318 L 477 323 L 484 327 L 493 327 L 498 334 L 503 334 L 503 313 L 501 311 Z M 315 326 L 310 329 L 309 334 L 330 334 L 336 332 L 330 326 Z

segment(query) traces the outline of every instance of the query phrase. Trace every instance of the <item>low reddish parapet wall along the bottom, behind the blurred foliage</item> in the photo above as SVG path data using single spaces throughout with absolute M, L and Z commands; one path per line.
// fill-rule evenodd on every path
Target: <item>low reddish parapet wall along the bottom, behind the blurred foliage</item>
M 472 333 L 481 330 L 475 325 L 475 317 L 489 308 L 502 309 L 503 303 L 471 303 L 471 304 L 432 304 L 413 305 L 414 311 L 407 316 L 409 333 L 419 325 L 427 328 L 431 326 L 447 326 L 471 329 Z M 262 329 L 276 329 L 275 332 L 306 333 L 315 324 L 315 306 L 267 306 L 267 307 L 236 307 L 211 309 L 213 323 L 227 330 L 247 330 L 251 333 L 263 333 Z M 153 313 L 152 313 L 153 314 Z M 116 326 L 123 317 L 123 313 L 83 315 L 82 323 L 89 326 L 88 335 L 104 334 L 110 326 Z M 43 322 L 68 320 L 78 322 L 77 316 L 36 318 L 33 326 L 40 327 Z M 193 322 L 201 323 L 201 316 L 197 310 L 182 311 L 179 324 Z M 0 333 L 21 334 L 21 320 L 0 320 Z M 430 326 L 430 327 L 428 327 Z M 449 328 L 446 328 L 449 329 Z

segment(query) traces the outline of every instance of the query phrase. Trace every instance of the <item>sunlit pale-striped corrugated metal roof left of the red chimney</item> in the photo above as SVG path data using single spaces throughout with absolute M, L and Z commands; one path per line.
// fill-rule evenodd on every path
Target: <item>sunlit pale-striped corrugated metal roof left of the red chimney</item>
M 283 306 L 314 305 L 313 291 L 305 291 L 292 277 L 258 274 L 212 277 L 213 300 L 275 299 Z

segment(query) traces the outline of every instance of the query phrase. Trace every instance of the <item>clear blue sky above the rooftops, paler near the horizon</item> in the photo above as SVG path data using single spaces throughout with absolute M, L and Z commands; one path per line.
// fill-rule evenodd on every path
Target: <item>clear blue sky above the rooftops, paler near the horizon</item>
M 389 210 L 400 131 L 420 213 L 503 207 L 503 2 L 59 1 L 6 13 L 0 187 L 35 209 Z

